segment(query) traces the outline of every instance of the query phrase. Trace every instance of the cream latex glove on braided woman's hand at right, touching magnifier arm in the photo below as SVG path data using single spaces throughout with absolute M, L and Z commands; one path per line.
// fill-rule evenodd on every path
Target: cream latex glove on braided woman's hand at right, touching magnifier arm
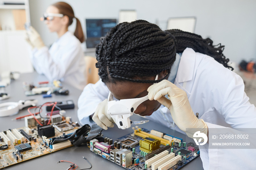
M 207 135 L 207 124 L 203 119 L 197 119 L 193 113 L 186 92 L 167 80 L 151 85 L 147 91 L 149 100 L 157 100 L 170 110 L 173 121 L 188 137 L 193 138 L 194 133 L 199 130 Z M 165 97 L 166 94 L 169 99 Z M 198 129 L 186 131 L 186 128 Z

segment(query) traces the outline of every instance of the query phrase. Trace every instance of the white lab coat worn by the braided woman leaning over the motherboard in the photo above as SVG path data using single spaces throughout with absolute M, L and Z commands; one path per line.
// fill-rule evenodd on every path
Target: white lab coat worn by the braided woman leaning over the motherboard
M 199 119 L 203 119 L 208 128 L 256 127 L 256 108 L 249 103 L 242 78 L 223 67 L 214 58 L 196 53 L 190 48 L 185 49 L 174 84 L 187 93 L 193 112 L 199 113 Z M 91 123 L 88 116 L 94 113 L 99 102 L 108 97 L 108 93 L 108 88 L 101 80 L 84 88 L 78 100 L 78 118 L 82 124 Z M 170 111 L 163 105 L 151 116 L 145 117 L 182 132 L 173 125 Z M 207 144 L 199 148 L 206 170 L 254 167 L 252 163 L 244 163 L 245 159 L 248 161 L 251 156 L 243 156 L 255 154 L 254 149 L 208 149 Z

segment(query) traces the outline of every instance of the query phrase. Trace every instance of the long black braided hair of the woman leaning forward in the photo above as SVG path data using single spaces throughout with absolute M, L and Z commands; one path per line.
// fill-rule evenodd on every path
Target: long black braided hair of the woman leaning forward
M 217 47 L 218 46 L 218 47 Z M 187 47 L 213 57 L 223 66 L 229 59 L 222 54 L 224 46 L 213 46 L 210 38 L 181 30 L 162 31 L 145 20 L 123 22 L 113 27 L 96 46 L 96 67 L 102 82 L 132 81 L 155 83 L 166 79 L 176 59 L 176 53 Z M 161 80 L 148 80 L 162 71 Z

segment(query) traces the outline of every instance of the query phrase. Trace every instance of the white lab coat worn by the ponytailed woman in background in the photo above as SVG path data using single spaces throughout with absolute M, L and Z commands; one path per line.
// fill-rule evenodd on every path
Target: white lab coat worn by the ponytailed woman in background
M 69 31 L 56 40 L 48 49 L 33 49 L 31 62 L 39 74 L 49 81 L 60 80 L 83 90 L 85 61 L 80 41 Z

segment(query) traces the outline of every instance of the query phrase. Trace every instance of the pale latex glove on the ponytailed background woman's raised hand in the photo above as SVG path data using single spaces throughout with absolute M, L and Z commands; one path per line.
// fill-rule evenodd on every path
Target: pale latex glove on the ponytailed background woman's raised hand
M 44 42 L 41 39 L 41 36 L 32 26 L 29 27 L 30 30 L 27 31 L 27 42 L 32 46 L 36 47 L 38 50 L 44 47 Z

